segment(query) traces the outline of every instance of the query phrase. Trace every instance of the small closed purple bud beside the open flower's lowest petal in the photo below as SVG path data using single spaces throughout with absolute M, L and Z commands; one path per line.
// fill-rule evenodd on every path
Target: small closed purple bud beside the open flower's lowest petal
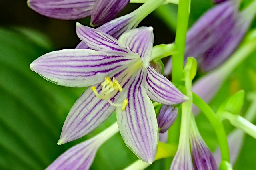
M 163 105 L 157 117 L 159 133 L 166 132 L 178 116 L 178 109 L 172 105 Z

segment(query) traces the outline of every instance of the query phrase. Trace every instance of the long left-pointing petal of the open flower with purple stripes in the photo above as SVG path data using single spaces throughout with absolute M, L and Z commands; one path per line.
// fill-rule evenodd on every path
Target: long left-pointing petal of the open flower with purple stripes
M 43 55 L 30 68 L 45 79 L 68 87 L 86 87 L 104 80 L 138 56 L 90 49 L 64 49 Z

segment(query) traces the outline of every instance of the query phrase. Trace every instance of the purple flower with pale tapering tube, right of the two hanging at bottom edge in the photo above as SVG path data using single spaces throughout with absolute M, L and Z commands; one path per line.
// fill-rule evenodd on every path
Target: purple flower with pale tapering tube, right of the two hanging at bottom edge
M 190 145 L 195 170 L 218 170 L 212 152 L 198 132 L 194 119 L 191 119 L 190 125 Z

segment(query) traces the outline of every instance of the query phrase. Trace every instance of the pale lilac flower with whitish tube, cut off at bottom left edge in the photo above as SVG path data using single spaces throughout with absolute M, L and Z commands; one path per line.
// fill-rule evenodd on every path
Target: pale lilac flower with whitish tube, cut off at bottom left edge
M 118 132 L 117 123 L 60 155 L 46 170 L 88 170 L 98 148 Z

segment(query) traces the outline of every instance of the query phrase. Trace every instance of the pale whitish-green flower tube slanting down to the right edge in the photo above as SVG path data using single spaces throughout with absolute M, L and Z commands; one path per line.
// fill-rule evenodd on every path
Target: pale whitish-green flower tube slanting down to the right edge
M 242 116 L 233 115 L 229 112 L 223 112 L 220 114 L 220 116 L 221 118 L 228 119 L 234 127 L 240 128 L 241 130 L 256 139 L 256 126 L 244 119 Z

